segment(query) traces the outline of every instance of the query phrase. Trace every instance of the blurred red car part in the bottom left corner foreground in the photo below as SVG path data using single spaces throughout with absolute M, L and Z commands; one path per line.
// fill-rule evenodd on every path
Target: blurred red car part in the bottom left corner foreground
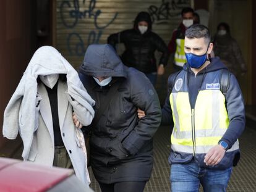
M 0 191 L 57 192 L 93 191 L 75 177 L 71 169 L 45 167 L 0 157 Z

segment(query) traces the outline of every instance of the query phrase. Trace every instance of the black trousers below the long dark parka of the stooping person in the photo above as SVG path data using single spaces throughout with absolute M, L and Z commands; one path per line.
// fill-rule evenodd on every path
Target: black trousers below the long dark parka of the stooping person
M 100 183 L 101 192 L 143 192 L 147 182 Z

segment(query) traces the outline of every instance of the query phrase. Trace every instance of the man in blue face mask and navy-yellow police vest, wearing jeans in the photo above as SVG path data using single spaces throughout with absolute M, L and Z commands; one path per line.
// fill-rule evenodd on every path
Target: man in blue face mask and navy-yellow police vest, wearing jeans
M 162 123 L 174 127 L 171 135 L 171 190 L 226 191 L 239 161 L 238 138 L 245 127 L 242 93 L 236 77 L 218 58 L 204 25 L 192 25 L 185 33 L 187 63 L 168 79 L 168 96 Z M 228 73 L 226 96 L 222 75 Z

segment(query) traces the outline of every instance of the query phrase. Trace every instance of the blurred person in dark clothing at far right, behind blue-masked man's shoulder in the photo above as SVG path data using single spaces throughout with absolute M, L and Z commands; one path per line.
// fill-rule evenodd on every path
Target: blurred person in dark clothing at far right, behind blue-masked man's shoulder
M 247 72 L 242 52 L 237 41 L 230 34 L 228 23 L 222 22 L 218 24 L 213 43 L 215 56 L 220 57 L 221 61 L 236 77 L 239 72 L 241 72 L 241 75 Z

